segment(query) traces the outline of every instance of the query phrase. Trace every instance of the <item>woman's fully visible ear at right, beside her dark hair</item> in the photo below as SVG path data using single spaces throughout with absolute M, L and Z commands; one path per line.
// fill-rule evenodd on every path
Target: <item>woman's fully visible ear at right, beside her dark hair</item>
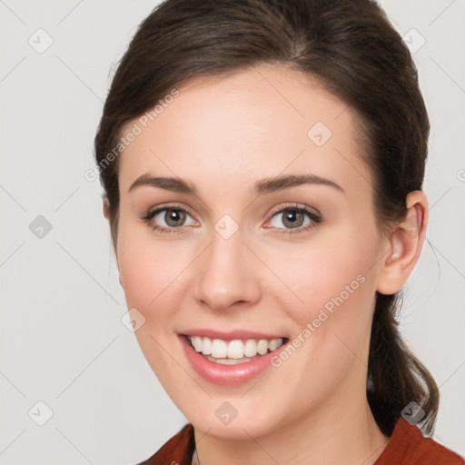
M 381 258 L 376 287 L 381 294 L 401 291 L 420 258 L 428 226 L 428 201 L 424 193 L 413 191 L 407 195 L 406 206 L 405 219 L 393 224 L 385 242 L 389 252 Z

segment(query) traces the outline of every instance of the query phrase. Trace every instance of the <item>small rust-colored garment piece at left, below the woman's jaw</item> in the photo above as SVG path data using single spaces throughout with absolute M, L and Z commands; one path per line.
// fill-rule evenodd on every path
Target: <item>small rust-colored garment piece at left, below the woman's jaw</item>
M 137 465 L 191 465 L 194 449 L 193 425 L 187 423 L 171 439 L 167 440 L 152 457 Z

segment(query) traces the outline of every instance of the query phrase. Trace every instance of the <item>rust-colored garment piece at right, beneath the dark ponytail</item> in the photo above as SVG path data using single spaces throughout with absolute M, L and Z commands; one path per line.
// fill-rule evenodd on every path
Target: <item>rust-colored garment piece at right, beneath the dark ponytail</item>
M 435 440 L 426 438 L 419 428 L 402 417 L 391 439 L 374 465 L 465 465 L 465 460 Z

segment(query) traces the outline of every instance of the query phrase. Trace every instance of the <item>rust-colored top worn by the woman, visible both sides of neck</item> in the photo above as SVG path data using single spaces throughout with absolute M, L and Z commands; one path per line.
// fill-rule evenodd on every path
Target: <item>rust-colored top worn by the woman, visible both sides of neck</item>
M 193 425 L 187 423 L 152 457 L 138 465 L 191 465 L 193 450 Z M 435 440 L 423 437 L 416 426 L 401 417 L 374 465 L 465 465 L 465 460 Z

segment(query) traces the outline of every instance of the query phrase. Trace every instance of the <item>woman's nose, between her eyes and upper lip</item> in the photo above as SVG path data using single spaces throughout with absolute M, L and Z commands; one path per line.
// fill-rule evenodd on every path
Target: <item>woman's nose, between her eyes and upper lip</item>
M 224 312 L 260 300 L 260 267 L 242 242 L 241 230 L 229 239 L 213 231 L 210 246 L 199 258 L 194 285 L 197 302 Z

